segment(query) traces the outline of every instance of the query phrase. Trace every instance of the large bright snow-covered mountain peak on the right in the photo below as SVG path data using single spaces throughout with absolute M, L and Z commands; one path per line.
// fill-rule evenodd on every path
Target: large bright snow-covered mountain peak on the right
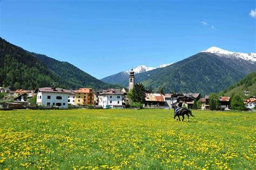
M 219 47 L 212 46 L 209 49 L 201 52 L 210 52 L 214 53 L 215 55 L 218 56 L 223 56 L 223 57 L 236 57 L 236 58 L 241 58 L 244 60 L 248 60 L 252 63 L 256 62 L 256 53 L 242 53 L 242 52 L 231 52 L 227 50 L 220 49 Z

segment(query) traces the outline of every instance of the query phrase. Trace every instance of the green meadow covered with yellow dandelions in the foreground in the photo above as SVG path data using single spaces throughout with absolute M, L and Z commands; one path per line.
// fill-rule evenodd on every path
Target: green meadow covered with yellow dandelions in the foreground
M 255 169 L 256 113 L 0 111 L 0 169 Z

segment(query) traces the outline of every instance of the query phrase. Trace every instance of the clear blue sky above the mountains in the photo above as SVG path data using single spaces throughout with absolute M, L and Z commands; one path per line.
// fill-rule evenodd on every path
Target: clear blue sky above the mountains
M 256 52 L 255 9 L 255 1 L 246 0 L 0 0 L 0 36 L 104 78 L 211 46 Z

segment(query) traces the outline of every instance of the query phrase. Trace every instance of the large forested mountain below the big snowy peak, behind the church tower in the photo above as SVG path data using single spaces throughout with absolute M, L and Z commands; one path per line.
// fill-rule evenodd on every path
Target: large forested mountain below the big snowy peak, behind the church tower
M 209 94 L 225 90 L 252 71 L 256 71 L 256 63 L 200 52 L 170 66 L 136 74 L 135 80 L 136 83 L 143 83 L 147 89 L 163 87 L 165 92 Z M 114 77 L 107 80 L 113 83 Z M 128 86 L 126 77 L 116 83 Z

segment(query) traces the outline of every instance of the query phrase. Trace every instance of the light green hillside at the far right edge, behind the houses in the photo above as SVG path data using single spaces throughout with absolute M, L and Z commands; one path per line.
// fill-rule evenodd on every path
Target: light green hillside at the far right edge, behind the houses
M 245 96 L 244 91 L 250 91 L 251 93 L 248 96 Z M 238 83 L 231 85 L 224 91 L 224 93 L 225 96 L 239 94 L 242 98 L 256 96 L 256 72 L 248 74 L 240 81 L 238 81 Z

